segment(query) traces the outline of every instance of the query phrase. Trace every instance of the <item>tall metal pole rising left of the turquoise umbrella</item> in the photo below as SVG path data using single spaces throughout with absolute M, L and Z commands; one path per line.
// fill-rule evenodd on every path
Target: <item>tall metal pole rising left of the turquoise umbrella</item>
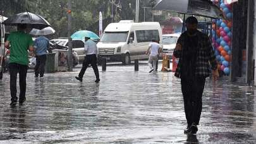
M 73 71 L 73 56 L 71 43 L 71 0 L 68 1 L 68 71 Z

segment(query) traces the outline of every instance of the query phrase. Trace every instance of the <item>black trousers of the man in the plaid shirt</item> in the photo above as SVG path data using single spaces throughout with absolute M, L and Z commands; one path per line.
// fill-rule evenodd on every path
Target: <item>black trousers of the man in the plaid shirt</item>
M 202 95 L 204 92 L 205 78 L 182 78 L 181 90 L 184 99 L 185 115 L 188 126 L 192 123 L 199 124 L 202 112 Z

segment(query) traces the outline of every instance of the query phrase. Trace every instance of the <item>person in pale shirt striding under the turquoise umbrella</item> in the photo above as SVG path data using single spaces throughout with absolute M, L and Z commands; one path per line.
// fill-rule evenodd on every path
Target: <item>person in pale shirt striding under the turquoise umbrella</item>
M 94 69 L 94 73 L 96 76 L 96 83 L 99 83 L 99 69 L 97 66 L 97 45 L 94 41 L 90 40 L 89 37 L 85 37 L 85 60 L 83 61 L 82 69 L 78 76 L 76 76 L 76 80 L 82 81 L 83 75 L 85 74 L 85 71 L 89 64 L 92 65 L 92 68 Z

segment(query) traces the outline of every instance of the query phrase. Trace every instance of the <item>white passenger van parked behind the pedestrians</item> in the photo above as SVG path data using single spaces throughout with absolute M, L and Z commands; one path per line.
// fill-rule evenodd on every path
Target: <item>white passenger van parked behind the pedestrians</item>
M 134 59 L 147 59 L 145 54 L 152 39 L 162 45 L 162 30 L 157 22 L 134 23 L 130 20 L 107 25 L 97 44 L 99 59 L 130 64 Z

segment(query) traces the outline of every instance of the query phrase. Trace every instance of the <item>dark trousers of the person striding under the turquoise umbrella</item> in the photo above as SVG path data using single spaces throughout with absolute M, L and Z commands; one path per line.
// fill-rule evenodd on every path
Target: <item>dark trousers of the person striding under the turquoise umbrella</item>
M 96 56 L 96 54 L 85 56 L 85 60 L 83 61 L 83 67 L 82 67 L 78 76 L 80 78 L 83 78 L 83 75 L 85 75 L 85 71 L 86 71 L 89 64 L 92 65 L 92 68 L 94 69 L 96 79 L 98 80 L 99 79 L 99 69 L 98 69 L 98 66 L 97 66 L 97 56 Z

